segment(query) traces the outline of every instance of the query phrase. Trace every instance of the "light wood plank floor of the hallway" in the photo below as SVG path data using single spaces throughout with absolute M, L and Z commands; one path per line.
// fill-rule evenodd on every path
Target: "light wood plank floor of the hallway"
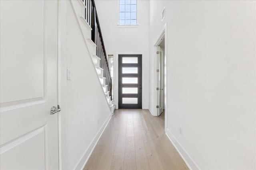
M 117 109 L 84 170 L 188 170 L 164 133 L 164 113 Z

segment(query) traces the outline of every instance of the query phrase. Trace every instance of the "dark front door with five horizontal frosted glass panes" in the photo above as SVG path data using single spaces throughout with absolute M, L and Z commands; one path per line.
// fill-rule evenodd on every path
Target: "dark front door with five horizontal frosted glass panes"
M 142 55 L 118 55 L 118 108 L 142 108 Z

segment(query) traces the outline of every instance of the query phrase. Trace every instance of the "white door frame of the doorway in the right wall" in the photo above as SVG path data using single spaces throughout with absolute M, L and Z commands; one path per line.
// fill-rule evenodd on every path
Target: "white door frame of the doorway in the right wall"
M 158 84 L 158 72 L 156 72 L 155 70 L 158 68 L 158 54 L 156 53 L 158 51 L 158 46 L 160 45 L 160 43 L 162 42 L 162 39 L 164 39 L 164 129 L 165 131 L 168 128 L 168 41 L 167 41 L 167 24 L 165 23 L 164 26 L 162 27 L 160 34 L 158 36 L 158 38 L 156 39 L 156 43 L 154 44 L 154 92 L 153 92 L 153 96 L 154 96 L 154 110 L 153 115 L 157 116 L 158 115 L 158 109 L 156 108 L 156 106 L 158 105 L 158 93 L 157 93 L 157 84 Z

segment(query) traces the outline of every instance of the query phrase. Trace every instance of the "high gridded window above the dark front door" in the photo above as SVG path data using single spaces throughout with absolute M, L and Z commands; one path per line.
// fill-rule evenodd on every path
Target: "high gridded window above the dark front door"
M 118 25 L 137 25 L 137 0 L 118 1 Z

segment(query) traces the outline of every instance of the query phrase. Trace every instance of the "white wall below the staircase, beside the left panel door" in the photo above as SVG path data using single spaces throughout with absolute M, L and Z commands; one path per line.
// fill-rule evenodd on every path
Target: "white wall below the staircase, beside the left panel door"
M 81 169 L 111 113 L 76 18 L 81 6 L 72 1 L 75 14 L 70 1 L 59 3 L 61 166 Z

